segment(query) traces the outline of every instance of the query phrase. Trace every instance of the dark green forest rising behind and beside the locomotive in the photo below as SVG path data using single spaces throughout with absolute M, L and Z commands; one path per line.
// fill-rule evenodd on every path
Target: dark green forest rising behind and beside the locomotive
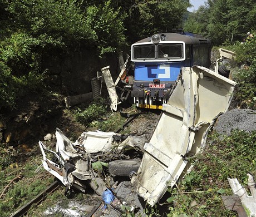
M 0 0 L 0 109 L 46 89 L 88 92 L 100 67 L 117 70 L 117 53 L 178 28 L 203 34 L 213 46 L 235 46 L 238 61 L 256 68 L 255 45 L 240 47 L 256 29 L 255 0 L 208 0 L 193 13 L 189 7 L 189 0 Z M 243 79 L 254 82 L 254 74 Z

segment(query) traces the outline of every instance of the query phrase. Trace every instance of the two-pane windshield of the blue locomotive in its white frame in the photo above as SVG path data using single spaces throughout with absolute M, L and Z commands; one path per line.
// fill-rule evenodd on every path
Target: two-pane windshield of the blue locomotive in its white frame
M 163 43 L 159 45 L 137 45 L 134 46 L 135 60 L 152 60 L 152 59 L 180 59 L 183 58 L 183 44 L 168 44 Z

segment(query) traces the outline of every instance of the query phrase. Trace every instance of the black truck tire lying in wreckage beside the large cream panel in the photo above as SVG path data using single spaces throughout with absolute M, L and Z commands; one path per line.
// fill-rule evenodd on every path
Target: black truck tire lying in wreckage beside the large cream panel
M 140 159 L 114 160 L 109 162 L 109 172 L 117 176 L 129 176 L 130 172 L 137 172 L 140 167 Z

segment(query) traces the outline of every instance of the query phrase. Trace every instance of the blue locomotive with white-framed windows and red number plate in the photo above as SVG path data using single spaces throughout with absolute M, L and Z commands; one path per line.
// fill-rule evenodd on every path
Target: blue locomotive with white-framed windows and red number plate
M 131 46 L 137 107 L 161 109 L 170 97 L 181 67 L 210 66 L 210 41 L 192 33 L 161 33 Z

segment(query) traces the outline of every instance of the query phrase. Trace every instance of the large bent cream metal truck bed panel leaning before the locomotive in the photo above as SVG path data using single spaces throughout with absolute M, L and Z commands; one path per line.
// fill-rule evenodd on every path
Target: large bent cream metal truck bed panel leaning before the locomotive
M 131 182 L 148 204 L 161 199 L 190 167 L 216 117 L 228 110 L 237 85 L 205 67 L 181 68 L 181 78 L 151 136 Z

